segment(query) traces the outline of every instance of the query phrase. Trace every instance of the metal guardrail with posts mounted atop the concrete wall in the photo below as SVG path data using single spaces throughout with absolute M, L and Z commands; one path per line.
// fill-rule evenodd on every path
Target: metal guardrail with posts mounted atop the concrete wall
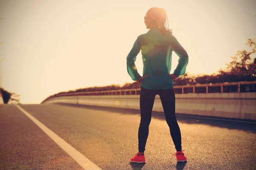
M 234 93 L 234 92 L 256 92 L 256 81 L 252 82 L 226 82 L 216 84 L 198 84 L 198 85 L 178 85 L 174 86 L 175 94 L 188 93 Z M 102 95 L 139 95 L 140 88 L 137 89 L 120 89 L 111 91 L 87 91 L 57 94 L 50 97 L 60 96 L 102 96 Z

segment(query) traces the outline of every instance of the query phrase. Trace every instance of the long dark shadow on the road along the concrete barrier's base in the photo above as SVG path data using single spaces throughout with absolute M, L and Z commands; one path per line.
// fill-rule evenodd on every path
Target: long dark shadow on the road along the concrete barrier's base
M 99 107 L 99 106 L 90 106 L 90 105 L 71 105 L 71 104 L 59 104 L 59 105 L 76 107 L 76 108 L 86 108 L 86 109 L 99 110 L 99 111 L 108 111 L 111 113 L 119 113 L 119 114 L 140 115 L 140 111 L 133 110 L 133 109 L 109 108 L 109 107 Z M 254 123 L 232 122 L 232 120 L 234 119 L 218 118 L 216 120 L 216 119 L 212 119 L 212 117 L 207 117 L 207 116 L 193 117 L 191 115 L 185 115 L 185 114 L 176 114 L 176 117 L 177 117 L 177 121 L 181 123 L 210 125 L 215 127 L 224 127 L 228 129 L 244 130 L 246 132 L 256 133 L 255 122 Z M 152 112 L 152 118 L 166 121 L 164 114 L 159 112 Z

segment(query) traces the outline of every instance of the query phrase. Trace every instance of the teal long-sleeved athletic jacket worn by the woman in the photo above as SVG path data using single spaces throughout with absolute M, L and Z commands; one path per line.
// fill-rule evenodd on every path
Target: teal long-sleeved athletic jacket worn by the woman
M 172 51 L 175 51 L 177 56 L 180 57 L 173 74 L 176 77 L 185 74 L 189 57 L 171 31 L 163 35 L 159 28 L 153 28 L 146 34 L 137 37 L 126 57 L 127 71 L 134 81 L 141 77 L 134 63 L 140 50 L 143 59 L 143 76 L 148 75 L 142 79 L 140 87 L 146 89 L 173 88 L 173 79 L 169 77 L 172 65 Z

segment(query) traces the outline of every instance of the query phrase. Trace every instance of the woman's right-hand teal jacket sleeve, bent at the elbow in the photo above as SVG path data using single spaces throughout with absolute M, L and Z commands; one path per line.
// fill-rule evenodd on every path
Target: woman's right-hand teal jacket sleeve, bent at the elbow
M 174 75 L 179 77 L 186 72 L 186 66 L 189 63 L 189 56 L 186 50 L 180 45 L 177 39 L 173 36 L 173 51 L 179 56 L 177 68 L 174 70 Z

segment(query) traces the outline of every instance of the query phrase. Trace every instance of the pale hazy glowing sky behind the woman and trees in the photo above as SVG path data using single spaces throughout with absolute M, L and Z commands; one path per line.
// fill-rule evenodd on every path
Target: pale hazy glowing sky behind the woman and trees
M 133 82 L 126 57 L 151 7 L 189 54 L 186 72 L 225 67 L 256 38 L 255 0 L 0 0 L 2 86 L 20 102 L 60 91 Z M 178 57 L 173 53 L 172 70 Z M 142 75 L 141 54 L 135 62 Z

